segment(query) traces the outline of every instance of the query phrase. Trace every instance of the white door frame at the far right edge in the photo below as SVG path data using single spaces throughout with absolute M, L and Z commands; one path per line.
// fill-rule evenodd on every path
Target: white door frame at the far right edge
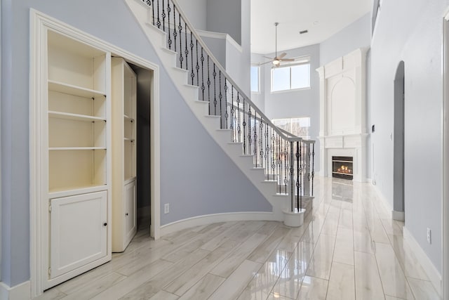
M 449 299 L 449 8 L 443 18 L 443 199 L 441 296 Z

